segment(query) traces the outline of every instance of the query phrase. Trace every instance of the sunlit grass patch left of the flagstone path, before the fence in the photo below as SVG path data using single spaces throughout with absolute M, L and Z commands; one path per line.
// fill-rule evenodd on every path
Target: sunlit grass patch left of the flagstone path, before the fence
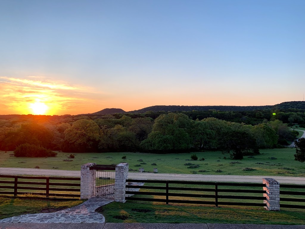
M 70 208 L 85 200 L 56 201 L 0 197 L 0 219 L 28 213 L 47 213 Z

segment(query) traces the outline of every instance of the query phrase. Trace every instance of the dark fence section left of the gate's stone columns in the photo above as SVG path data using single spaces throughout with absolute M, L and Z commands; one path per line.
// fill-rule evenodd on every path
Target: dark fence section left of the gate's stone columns
M 69 192 L 79 192 L 80 188 L 62 188 L 62 187 L 50 187 L 50 186 L 76 186 L 80 187 L 81 184 L 75 183 L 60 183 L 60 182 L 50 182 L 50 180 L 81 180 L 78 177 L 49 177 L 49 176 L 11 176 L 11 175 L 0 175 L 0 178 L 13 178 L 14 180 L 0 180 L 0 194 L 13 194 L 14 197 L 22 194 L 32 194 L 40 195 L 49 198 L 54 197 L 81 197 L 81 194 L 69 194 Z M 45 180 L 45 182 L 31 182 L 31 181 L 20 181 L 18 179 L 35 179 L 35 180 Z M 1 184 L 14 184 L 14 186 L 1 185 Z M 25 185 L 41 185 L 45 187 L 27 187 L 19 186 L 21 184 Z M 13 191 L 1 191 L 1 189 L 12 189 Z M 20 191 L 19 191 L 20 190 Z M 21 190 L 42 190 L 45 192 L 28 192 Z M 50 193 L 50 191 L 64 191 L 68 193 Z

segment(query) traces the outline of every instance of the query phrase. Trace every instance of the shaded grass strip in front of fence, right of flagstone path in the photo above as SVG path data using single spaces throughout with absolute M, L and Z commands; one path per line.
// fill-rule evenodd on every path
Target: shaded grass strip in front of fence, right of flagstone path
M 100 211 L 106 223 L 305 224 L 304 211 L 288 209 L 275 212 L 263 207 L 207 207 L 127 201 L 124 204 L 112 202 Z

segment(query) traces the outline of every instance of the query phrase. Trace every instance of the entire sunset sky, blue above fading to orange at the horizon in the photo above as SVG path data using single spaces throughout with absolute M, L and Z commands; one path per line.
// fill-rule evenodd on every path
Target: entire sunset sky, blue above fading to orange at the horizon
M 304 0 L 0 0 L 0 114 L 301 101 L 304 10 Z

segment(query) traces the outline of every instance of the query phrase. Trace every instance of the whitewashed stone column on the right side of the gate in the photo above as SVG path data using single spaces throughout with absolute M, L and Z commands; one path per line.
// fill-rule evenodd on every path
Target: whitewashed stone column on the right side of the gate
M 114 201 L 125 203 L 126 179 L 128 179 L 128 163 L 115 166 Z

